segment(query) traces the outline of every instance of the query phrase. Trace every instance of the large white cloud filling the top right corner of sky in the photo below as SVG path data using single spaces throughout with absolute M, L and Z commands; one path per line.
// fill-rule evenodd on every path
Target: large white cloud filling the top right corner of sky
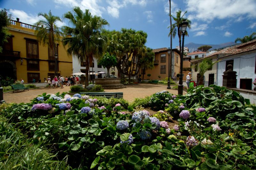
M 255 0 L 187 0 L 189 18 L 211 22 L 214 18 L 256 18 Z M 242 19 L 242 18 L 240 18 Z

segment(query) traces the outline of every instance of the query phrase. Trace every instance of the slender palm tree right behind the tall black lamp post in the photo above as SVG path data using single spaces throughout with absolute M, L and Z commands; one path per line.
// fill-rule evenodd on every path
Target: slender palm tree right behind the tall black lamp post
M 181 10 L 177 11 L 176 12 L 176 17 L 172 16 L 173 20 L 175 21 L 174 24 L 172 24 L 171 26 L 171 30 L 170 30 L 170 34 L 172 34 L 173 37 L 175 37 L 176 33 L 178 33 L 178 37 L 179 37 L 179 43 L 180 43 L 180 54 L 181 54 L 181 35 L 182 35 L 182 32 L 181 32 L 181 24 L 182 22 L 184 21 L 187 21 L 188 22 L 188 28 L 190 29 L 191 28 L 191 21 L 188 19 L 188 18 L 183 18 L 183 16 L 187 13 L 184 12 L 184 14 L 181 16 Z M 177 31 L 176 31 L 176 28 L 177 28 Z M 186 31 L 185 32 L 185 35 L 188 36 L 188 32 Z

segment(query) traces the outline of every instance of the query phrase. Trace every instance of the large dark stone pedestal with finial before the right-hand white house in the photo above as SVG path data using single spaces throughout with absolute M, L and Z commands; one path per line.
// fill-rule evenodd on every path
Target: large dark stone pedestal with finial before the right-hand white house
M 232 65 L 228 64 L 228 71 L 223 72 L 222 86 L 236 88 L 236 71 L 232 71 Z

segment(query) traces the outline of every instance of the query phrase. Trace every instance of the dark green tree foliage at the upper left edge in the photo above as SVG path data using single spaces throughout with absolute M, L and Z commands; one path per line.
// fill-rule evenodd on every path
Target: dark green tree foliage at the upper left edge
M 8 29 L 4 28 L 10 24 L 9 19 L 12 19 L 12 15 L 8 14 L 6 9 L 2 9 L 0 11 L 0 53 L 3 51 L 4 42 L 8 42 L 7 38 L 11 36 Z

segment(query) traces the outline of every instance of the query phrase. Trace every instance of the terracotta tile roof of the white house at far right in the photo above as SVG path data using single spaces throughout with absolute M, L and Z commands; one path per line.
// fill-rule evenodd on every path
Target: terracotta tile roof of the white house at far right
M 239 49 L 239 48 L 242 48 L 242 47 L 243 47 L 243 49 Z M 256 40 L 252 40 L 252 41 L 249 41 L 249 42 L 246 42 L 246 43 L 243 43 L 243 44 L 239 44 L 237 46 L 222 49 L 222 50 L 217 51 L 215 53 L 212 53 L 211 55 L 208 55 L 204 58 L 209 58 L 209 57 L 214 57 L 214 56 L 217 57 L 217 55 L 220 55 L 219 58 L 223 58 L 223 57 L 236 55 L 236 54 L 241 54 L 241 53 L 245 53 L 245 52 L 249 52 L 249 51 L 253 51 L 253 50 L 256 50 Z M 200 58 L 198 60 L 191 60 L 191 63 L 201 61 L 204 58 Z

